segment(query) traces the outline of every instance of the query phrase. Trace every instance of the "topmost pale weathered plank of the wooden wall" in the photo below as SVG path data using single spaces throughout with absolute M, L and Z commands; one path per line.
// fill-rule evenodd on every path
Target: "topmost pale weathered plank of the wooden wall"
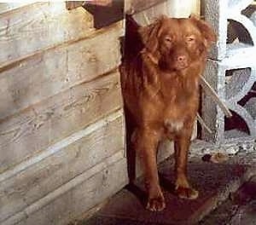
M 64 2 L 33 3 L 0 14 L 0 66 L 94 32 L 92 16 L 84 9 L 67 11 Z

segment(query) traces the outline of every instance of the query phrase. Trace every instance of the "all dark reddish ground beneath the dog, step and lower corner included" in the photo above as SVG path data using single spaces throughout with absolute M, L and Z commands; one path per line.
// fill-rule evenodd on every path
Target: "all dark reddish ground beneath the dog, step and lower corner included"
M 166 209 L 144 209 L 142 181 L 125 187 L 89 220 L 73 225 L 253 225 L 256 224 L 256 153 L 240 153 L 221 164 L 189 161 L 189 177 L 198 199 L 178 199 L 173 190 L 173 161 L 160 164 Z M 243 184 L 243 186 L 241 186 Z M 239 188 L 240 187 L 240 188 Z

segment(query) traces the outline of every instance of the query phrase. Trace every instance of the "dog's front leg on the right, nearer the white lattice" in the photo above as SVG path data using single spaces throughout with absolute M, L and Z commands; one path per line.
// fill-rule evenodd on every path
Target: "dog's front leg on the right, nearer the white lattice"
M 182 199 L 196 199 L 198 192 L 190 187 L 187 178 L 188 153 L 191 138 L 190 130 L 183 131 L 174 141 L 176 193 Z

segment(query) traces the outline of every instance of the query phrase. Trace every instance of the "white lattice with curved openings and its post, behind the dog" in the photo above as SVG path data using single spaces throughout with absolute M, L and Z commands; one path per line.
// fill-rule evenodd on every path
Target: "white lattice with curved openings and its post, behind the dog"
M 252 0 L 205 1 L 206 20 L 218 34 L 205 77 L 230 110 L 247 125 L 247 132 L 225 131 L 224 113 L 204 95 L 203 118 L 214 130 L 212 135 L 203 132 L 208 141 L 221 144 L 256 138 L 256 95 L 241 103 L 248 92 L 253 93 L 253 84 L 256 85 L 256 6 L 252 3 Z

